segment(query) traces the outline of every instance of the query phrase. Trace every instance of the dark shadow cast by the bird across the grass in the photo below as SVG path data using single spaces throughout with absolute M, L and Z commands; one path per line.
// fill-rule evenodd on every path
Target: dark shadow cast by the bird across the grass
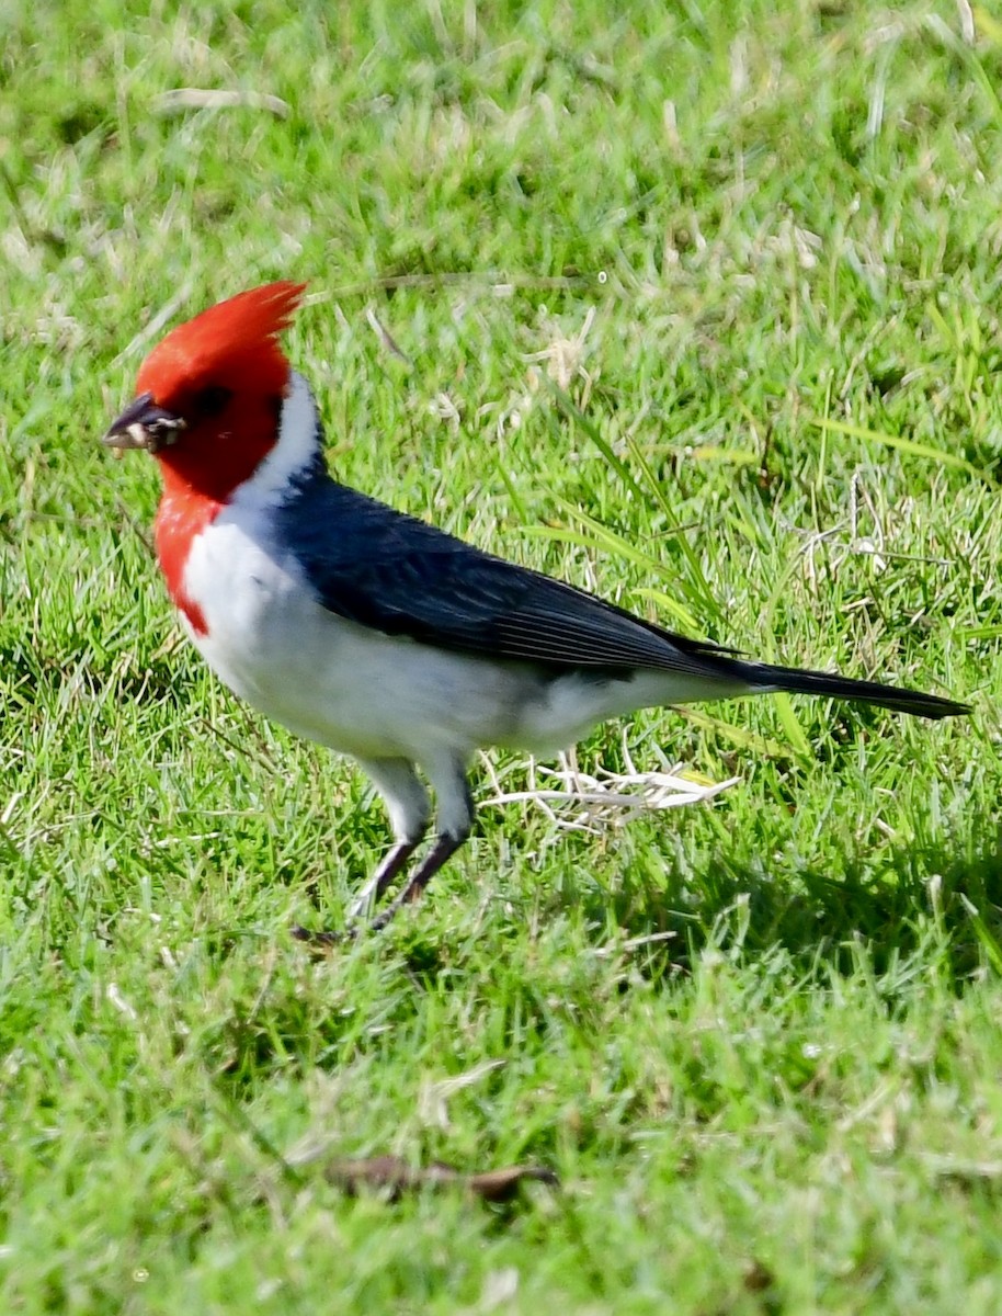
M 852 973 L 861 949 L 877 976 L 922 957 L 935 959 L 957 990 L 985 966 L 1002 974 L 1002 824 L 994 820 L 953 848 L 902 849 L 876 879 L 872 861 L 849 849 L 834 855 L 830 870 L 792 871 L 718 845 L 698 883 L 689 871 L 650 863 L 608 865 L 598 883 L 584 875 L 584 855 L 576 863 L 568 854 L 567 862 L 581 879 L 551 888 L 542 917 L 576 911 L 596 942 L 606 942 L 614 925 L 623 942 L 643 948 L 646 973 L 659 979 L 688 973 L 711 946 L 748 961 L 780 949 L 798 970 L 822 976 Z M 505 886 L 497 878 L 498 895 Z M 456 969 L 454 940 L 439 917 L 425 913 L 437 895 L 433 887 L 422 909 L 405 909 L 384 934 L 387 953 L 401 955 L 427 984 Z M 473 888 L 468 900 L 473 920 Z

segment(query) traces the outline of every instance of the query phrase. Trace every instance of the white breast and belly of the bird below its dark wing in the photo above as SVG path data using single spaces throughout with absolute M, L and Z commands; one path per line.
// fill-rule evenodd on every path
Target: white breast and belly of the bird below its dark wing
M 213 671 L 300 736 L 360 758 L 412 759 L 522 738 L 538 678 L 338 617 L 226 512 L 193 545 L 184 584 L 206 624 L 189 633 Z

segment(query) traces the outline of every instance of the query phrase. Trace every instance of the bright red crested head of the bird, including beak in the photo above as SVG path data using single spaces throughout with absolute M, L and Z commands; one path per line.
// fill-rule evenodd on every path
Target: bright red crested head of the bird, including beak
M 172 329 L 142 363 L 138 396 L 105 443 L 146 447 L 166 486 L 226 501 L 277 438 L 289 382 L 279 334 L 304 288 L 288 280 L 251 288 Z

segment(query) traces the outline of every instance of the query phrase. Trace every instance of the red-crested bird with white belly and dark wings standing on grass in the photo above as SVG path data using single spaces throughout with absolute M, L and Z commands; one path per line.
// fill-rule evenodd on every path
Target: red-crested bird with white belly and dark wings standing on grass
M 375 930 L 421 895 L 471 834 L 480 749 L 552 754 L 640 708 L 776 691 L 928 719 L 969 711 L 675 634 L 339 483 L 280 341 L 305 288 L 255 287 L 171 329 L 103 440 L 159 465 L 156 558 L 209 667 L 268 719 L 354 758 L 385 803 L 393 841 L 346 928 L 296 936 Z M 437 799 L 421 855 L 419 774 Z

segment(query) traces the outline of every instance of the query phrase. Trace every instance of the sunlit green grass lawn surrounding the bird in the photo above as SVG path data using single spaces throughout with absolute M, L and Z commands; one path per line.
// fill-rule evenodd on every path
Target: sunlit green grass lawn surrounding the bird
M 0 1307 L 997 1311 L 1002 24 L 149 8 L 0 12 Z M 166 324 L 275 276 L 345 480 L 974 715 L 640 715 L 638 765 L 739 784 L 485 808 L 312 959 L 384 819 L 181 642 L 153 463 L 97 443 Z M 383 1153 L 563 1187 L 325 1177 Z

